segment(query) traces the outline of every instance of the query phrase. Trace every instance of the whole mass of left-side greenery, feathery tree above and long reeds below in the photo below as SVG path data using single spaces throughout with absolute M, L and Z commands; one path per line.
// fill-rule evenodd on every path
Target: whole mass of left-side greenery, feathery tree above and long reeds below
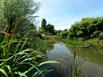
M 37 10 L 33 0 L 0 0 L 0 77 L 43 77 L 49 70 L 41 66 L 57 63 L 41 63 L 46 44 L 29 19 Z

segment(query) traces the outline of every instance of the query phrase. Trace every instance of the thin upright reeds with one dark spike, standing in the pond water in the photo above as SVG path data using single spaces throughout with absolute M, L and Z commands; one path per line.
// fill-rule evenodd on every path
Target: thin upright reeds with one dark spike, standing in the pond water
M 70 77 L 88 77 L 84 74 L 84 63 L 85 60 L 80 60 L 80 58 L 76 56 L 76 52 L 74 52 L 74 57 L 70 64 Z

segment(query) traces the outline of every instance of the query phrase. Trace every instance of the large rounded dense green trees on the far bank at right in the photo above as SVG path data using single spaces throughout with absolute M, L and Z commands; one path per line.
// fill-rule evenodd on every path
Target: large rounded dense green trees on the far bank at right
M 71 39 L 103 39 L 103 17 L 83 18 L 76 22 L 68 31 Z

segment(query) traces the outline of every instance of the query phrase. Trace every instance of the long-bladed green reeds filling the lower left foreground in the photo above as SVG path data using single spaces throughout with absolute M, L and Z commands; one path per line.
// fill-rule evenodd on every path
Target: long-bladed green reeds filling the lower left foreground
M 35 33 L 35 32 L 34 32 Z M 18 38 L 17 34 L 0 37 L 0 77 L 44 77 L 48 69 L 39 68 L 45 63 L 46 45 L 33 32 Z

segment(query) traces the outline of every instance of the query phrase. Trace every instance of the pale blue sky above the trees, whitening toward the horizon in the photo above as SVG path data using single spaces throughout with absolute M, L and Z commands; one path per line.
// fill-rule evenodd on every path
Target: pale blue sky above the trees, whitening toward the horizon
M 103 16 L 103 0 L 39 0 L 39 20 L 43 18 L 56 30 L 69 29 L 84 17 Z

